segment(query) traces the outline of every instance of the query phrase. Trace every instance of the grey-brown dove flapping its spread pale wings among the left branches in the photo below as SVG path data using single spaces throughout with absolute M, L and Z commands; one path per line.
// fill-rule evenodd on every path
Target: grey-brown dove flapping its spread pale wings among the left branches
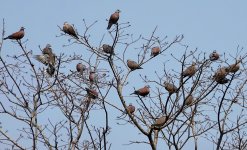
M 56 63 L 56 55 L 52 52 L 50 44 L 46 45 L 41 55 L 34 55 L 34 58 L 46 66 L 50 64 L 54 67 Z

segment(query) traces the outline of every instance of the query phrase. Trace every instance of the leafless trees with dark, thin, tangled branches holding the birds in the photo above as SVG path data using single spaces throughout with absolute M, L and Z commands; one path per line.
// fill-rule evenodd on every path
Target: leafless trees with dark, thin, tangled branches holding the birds
M 83 33 L 73 25 L 73 32 L 58 29 L 69 39 L 65 46 L 78 45 L 84 55 L 47 54 L 40 47 L 41 54 L 35 56 L 28 41 L 19 39 L 12 44 L 18 45 L 20 55 L 0 55 L 0 115 L 18 122 L 14 134 L 5 124 L 0 128 L 6 148 L 111 149 L 111 107 L 118 120 L 146 137 L 129 144 L 199 149 L 198 141 L 207 141 L 217 150 L 246 149 L 243 48 L 209 56 L 211 52 L 191 50 L 182 42 L 183 35 L 158 36 L 157 27 L 148 37 L 136 37 L 127 33 L 129 23 L 114 25 L 95 46 L 90 29 L 97 22 L 83 23 Z M 106 36 L 111 42 L 104 42 Z M 3 21 L 0 51 L 4 37 Z M 170 51 L 173 47 L 182 51 Z M 162 66 L 150 68 L 156 65 Z M 137 87 L 137 82 L 146 86 Z M 118 97 L 121 106 L 110 95 Z M 130 111 L 127 99 L 136 109 Z M 103 122 L 89 121 L 94 111 Z M 59 117 L 51 119 L 53 113 Z

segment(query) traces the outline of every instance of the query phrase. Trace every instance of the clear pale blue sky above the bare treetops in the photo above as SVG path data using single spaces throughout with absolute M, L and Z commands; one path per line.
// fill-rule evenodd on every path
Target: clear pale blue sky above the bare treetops
M 173 39 L 176 35 L 184 34 L 183 43 L 191 49 L 198 48 L 206 53 L 216 49 L 220 53 L 234 55 L 238 45 L 245 47 L 247 43 L 246 7 L 246 0 L 5 0 L 0 5 L 0 19 L 5 19 L 6 35 L 24 26 L 24 39 L 29 40 L 27 47 L 34 53 L 38 52 L 38 45 L 44 46 L 46 43 L 50 43 L 56 53 L 80 51 L 79 47 L 63 48 L 66 38 L 56 37 L 61 33 L 57 25 L 62 26 L 65 21 L 75 24 L 78 32 L 82 33 L 82 19 L 89 23 L 97 20 L 91 33 L 95 37 L 93 43 L 98 44 L 102 35 L 107 34 L 106 19 L 116 9 L 120 9 L 119 22 L 130 22 L 128 31 L 136 37 L 139 34 L 148 36 L 158 26 L 157 33 L 162 37 L 168 35 Z M 2 21 L 0 24 L 2 30 Z M 6 41 L 2 55 L 13 54 L 18 50 L 15 44 Z M 171 48 L 170 52 L 176 50 Z M 138 86 L 141 85 L 138 83 Z M 111 121 L 115 122 L 114 117 Z M 123 146 L 128 140 L 136 140 L 142 135 L 138 135 L 132 126 L 116 126 L 114 123 L 112 126 L 116 130 L 110 134 L 112 149 L 150 148 L 140 144 Z

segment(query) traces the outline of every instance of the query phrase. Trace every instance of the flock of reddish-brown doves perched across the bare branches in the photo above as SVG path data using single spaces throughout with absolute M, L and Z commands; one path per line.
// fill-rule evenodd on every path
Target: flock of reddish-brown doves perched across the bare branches
M 119 20 L 119 13 L 120 10 L 115 11 L 115 13 L 111 14 L 110 19 L 108 21 L 108 26 L 107 29 L 109 30 L 113 24 L 117 24 L 118 20 Z M 7 37 L 4 38 L 4 40 L 6 39 L 11 39 L 11 40 L 17 40 L 19 41 L 20 39 L 22 39 L 25 35 L 24 32 L 24 27 L 21 27 L 20 30 L 18 32 L 15 32 Z M 68 34 L 72 37 L 74 37 L 75 39 L 79 39 L 78 34 L 76 33 L 75 29 L 73 28 L 72 25 L 70 25 L 68 22 L 65 22 L 63 24 L 63 28 L 62 31 L 65 34 Z M 112 46 L 107 45 L 107 44 L 103 44 L 101 47 L 102 51 L 104 53 L 110 54 L 110 55 L 114 55 L 114 49 L 112 48 Z M 151 56 L 155 57 L 157 56 L 159 53 L 161 52 L 160 47 L 156 46 L 153 47 L 151 49 Z M 219 59 L 219 54 L 216 51 L 213 51 L 210 55 L 209 55 L 209 60 L 210 61 L 216 61 Z M 39 62 L 43 63 L 44 65 L 48 66 L 46 71 L 47 73 L 52 76 L 55 73 L 55 62 L 56 62 L 56 55 L 53 53 L 51 45 L 47 44 L 46 47 L 42 50 L 42 54 L 41 55 L 35 55 L 34 58 L 36 60 L 38 60 Z M 240 68 L 240 62 L 241 60 L 237 60 L 236 63 L 229 65 L 227 67 L 221 67 L 219 68 L 216 73 L 213 76 L 213 79 L 219 83 L 219 84 L 225 84 L 228 83 L 229 79 L 226 78 L 226 76 L 229 73 L 235 73 L 239 70 Z M 127 60 L 127 66 L 131 71 L 134 71 L 136 69 L 142 69 L 141 65 L 138 64 L 137 62 L 128 59 Z M 86 66 L 78 63 L 76 65 L 76 70 L 80 73 L 83 73 L 86 70 Z M 189 66 L 188 68 L 186 68 L 183 72 L 182 72 L 182 77 L 192 77 L 197 71 L 196 68 L 196 63 L 193 62 L 191 64 L 191 66 Z M 95 72 L 91 71 L 89 74 L 89 81 L 90 82 L 94 82 L 94 77 L 95 76 Z M 168 93 L 171 95 L 173 93 L 177 93 L 178 92 L 178 88 L 169 82 L 164 82 L 164 88 L 168 91 Z M 90 98 L 92 99 L 96 99 L 98 98 L 98 92 L 94 89 L 89 89 L 86 88 L 87 94 Z M 150 93 L 150 87 L 144 86 L 138 90 L 135 90 L 132 94 L 138 95 L 138 96 L 142 96 L 145 97 Z M 192 105 L 193 104 L 193 96 L 189 95 L 187 96 L 186 100 L 185 100 L 185 105 Z M 135 112 L 135 107 L 130 103 L 127 106 L 127 111 L 130 114 L 133 114 Z M 167 117 L 162 116 L 161 118 L 158 118 L 156 120 L 155 124 L 163 124 L 165 121 L 167 120 Z

